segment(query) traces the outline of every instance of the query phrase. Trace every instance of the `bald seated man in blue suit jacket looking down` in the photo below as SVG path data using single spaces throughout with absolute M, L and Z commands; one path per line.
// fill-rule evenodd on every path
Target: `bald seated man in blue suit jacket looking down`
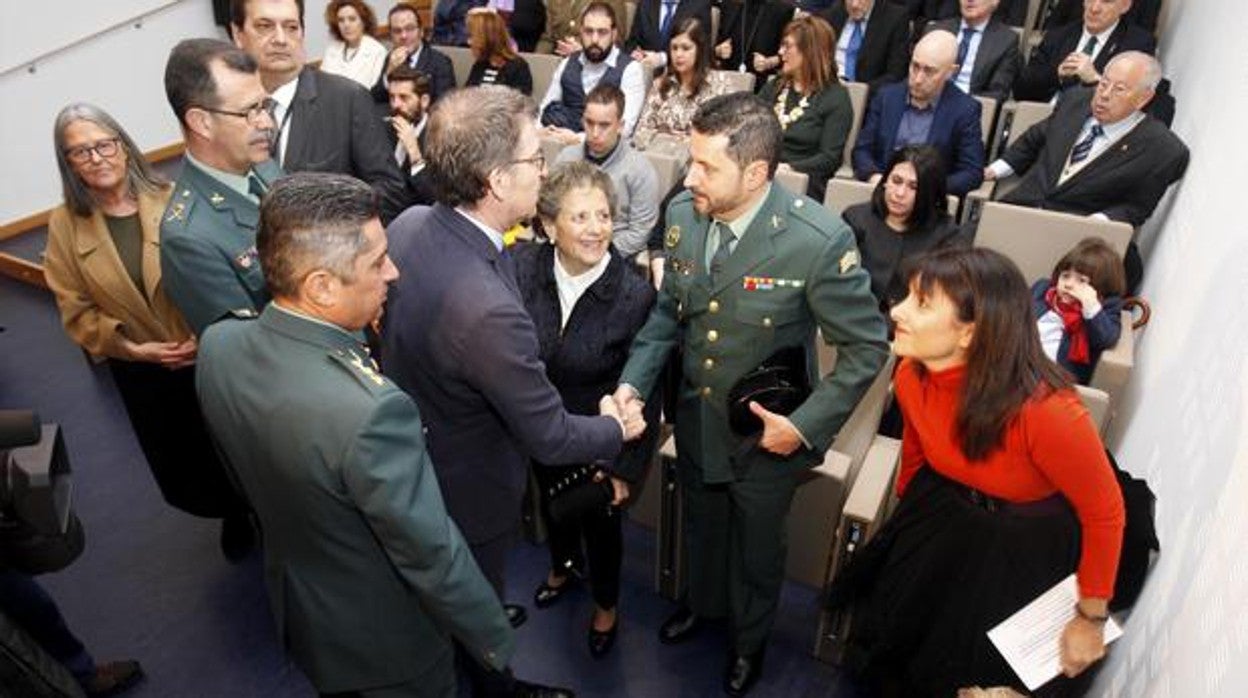
M 910 77 L 881 87 L 867 106 L 857 142 L 854 176 L 875 181 L 892 151 L 931 145 L 945 159 L 945 187 L 955 196 L 983 181 L 983 137 L 980 102 L 952 85 L 957 70 L 957 39 L 932 31 L 915 46 Z

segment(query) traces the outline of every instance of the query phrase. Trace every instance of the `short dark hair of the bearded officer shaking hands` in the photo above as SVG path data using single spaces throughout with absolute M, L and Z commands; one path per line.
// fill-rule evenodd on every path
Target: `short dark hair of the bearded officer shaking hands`
M 784 131 L 771 107 L 753 94 L 729 92 L 706 100 L 691 126 L 706 136 L 728 136 L 728 156 L 738 167 L 761 160 L 768 164 L 768 179 L 775 176 Z

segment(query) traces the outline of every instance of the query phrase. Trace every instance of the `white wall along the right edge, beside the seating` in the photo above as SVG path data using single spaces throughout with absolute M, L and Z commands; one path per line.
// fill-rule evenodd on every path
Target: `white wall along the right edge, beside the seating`
M 1146 231 L 1153 320 L 1117 417 L 1119 462 L 1158 497 L 1162 554 L 1093 694 L 1238 697 L 1248 696 L 1248 12 L 1242 0 L 1171 5 L 1161 57 L 1193 156 Z

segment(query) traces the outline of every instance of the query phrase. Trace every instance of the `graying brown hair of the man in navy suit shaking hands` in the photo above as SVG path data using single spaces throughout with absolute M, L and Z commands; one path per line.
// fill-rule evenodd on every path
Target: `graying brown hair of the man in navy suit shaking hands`
M 439 99 L 424 147 L 438 200 L 461 206 L 484 199 L 489 174 L 515 159 L 520 130 L 537 117 L 537 102 L 502 85 L 466 87 Z

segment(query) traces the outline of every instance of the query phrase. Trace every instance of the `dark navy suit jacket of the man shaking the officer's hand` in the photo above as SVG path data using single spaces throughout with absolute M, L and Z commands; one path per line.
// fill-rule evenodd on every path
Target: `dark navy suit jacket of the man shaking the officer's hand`
M 413 207 L 387 235 L 402 276 L 386 308 L 383 366 L 421 407 L 452 518 L 484 543 L 519 524 L 529 458 L 609 461 L 620 427 L 564 410 L 512 262 L 472 221 L 441 204 Z

